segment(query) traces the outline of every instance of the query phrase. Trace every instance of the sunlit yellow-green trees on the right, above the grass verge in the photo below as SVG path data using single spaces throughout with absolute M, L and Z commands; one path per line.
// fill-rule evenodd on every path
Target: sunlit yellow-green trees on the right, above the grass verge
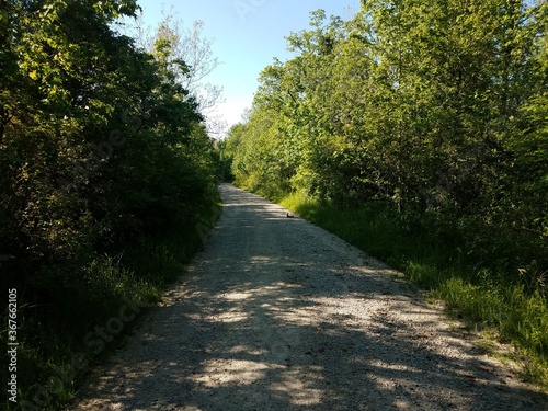
M 364 2 L 349 22 L 313 12 L 225 142 L 236 181 L 478 218 L 546 243 L 546 10 L 401 0 Z

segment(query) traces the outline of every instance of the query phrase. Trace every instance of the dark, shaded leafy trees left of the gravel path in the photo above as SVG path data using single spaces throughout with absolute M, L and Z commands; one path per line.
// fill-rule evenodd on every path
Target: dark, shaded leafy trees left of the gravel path
M 0 7 L 0 270 L 18 290 L 24 397 L 57 349 L 87 349 L 122 297 L 146 297 L 163 272 L 135 250 L 193 230 L 217 165 L 169 31 L 147 53 L 114 30 L 134 0 Z

